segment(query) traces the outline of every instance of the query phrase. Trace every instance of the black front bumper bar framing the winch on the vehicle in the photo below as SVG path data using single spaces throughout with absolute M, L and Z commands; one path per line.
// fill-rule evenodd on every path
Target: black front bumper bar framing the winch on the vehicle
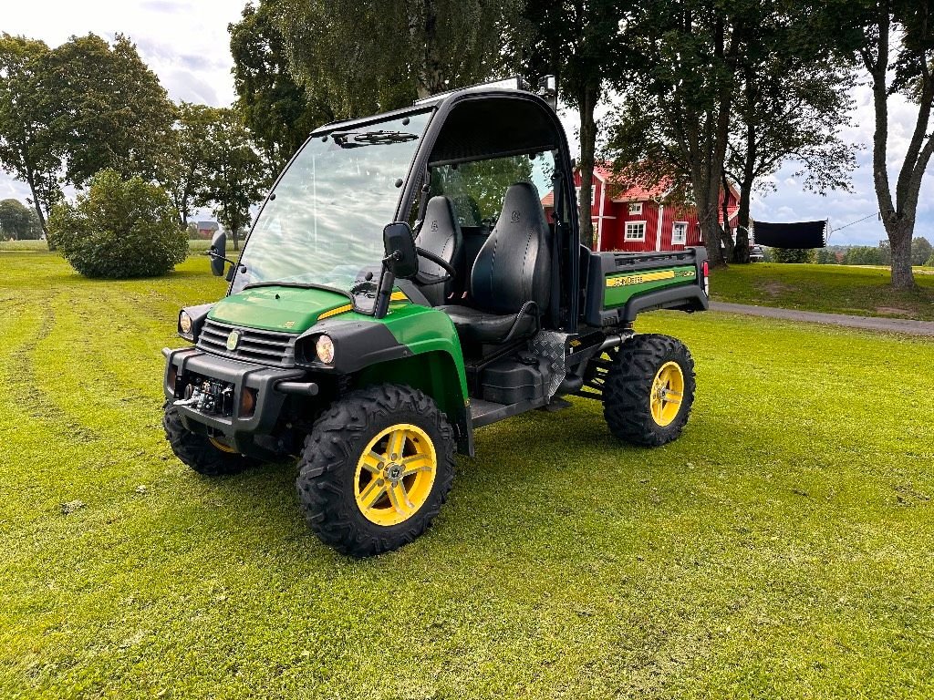
M 178 415 L 191 432 L 206 433 L 226 442 L 239 452 L 253 451 L 255 438 L 269 434 L 276 426 L 288 393 L 276 385 L 294 382 L 305 375 L 303 370 L 279 369 L 209 355 L 194 347 L 163 350 L 165 373 L 163 390 L 169 400 L 182 399 L 183 387 L 191 377 L 212 379 L 233 388 L 232 410 L 229 414 L 207 413 L 193 406 L 177 405 Z M 243 393 L 255 392 L 253 409 L 241 414 Z

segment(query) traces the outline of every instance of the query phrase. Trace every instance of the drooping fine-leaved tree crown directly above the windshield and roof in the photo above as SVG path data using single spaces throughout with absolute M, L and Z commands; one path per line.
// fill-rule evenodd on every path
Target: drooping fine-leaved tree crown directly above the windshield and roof
M 337 119 L 496 75 L 518 0 L 265 0 L 292 73 Z

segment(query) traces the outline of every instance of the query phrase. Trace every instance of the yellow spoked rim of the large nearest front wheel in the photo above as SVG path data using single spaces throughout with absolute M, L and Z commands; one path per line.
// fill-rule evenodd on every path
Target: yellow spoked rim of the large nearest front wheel
M 398 525 L 415 515 L 432 493 L 438 470 L 434 444 L 407 423 L 382 430 L 367 444 L 354 475 L 354 496 L 376 525 Z

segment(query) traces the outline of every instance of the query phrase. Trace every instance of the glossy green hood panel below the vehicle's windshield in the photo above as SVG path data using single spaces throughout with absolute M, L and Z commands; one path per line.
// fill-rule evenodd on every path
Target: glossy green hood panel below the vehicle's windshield
M 218 301 L 207 317 L 233 326 L 303 333 L 318 316 L 349 303 L 343 294 L 325 289 L 256 287 Z

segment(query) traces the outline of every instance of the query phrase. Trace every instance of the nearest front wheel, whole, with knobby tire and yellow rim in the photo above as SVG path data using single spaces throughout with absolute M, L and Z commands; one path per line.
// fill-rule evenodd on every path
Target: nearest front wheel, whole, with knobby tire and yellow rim
M 454 479 L 454 432 L 432 399 L 373 386 L 335 401 L 304 441 L 296 481 L 311 529 L 352 556 L 398 549 L 432 524 Z

